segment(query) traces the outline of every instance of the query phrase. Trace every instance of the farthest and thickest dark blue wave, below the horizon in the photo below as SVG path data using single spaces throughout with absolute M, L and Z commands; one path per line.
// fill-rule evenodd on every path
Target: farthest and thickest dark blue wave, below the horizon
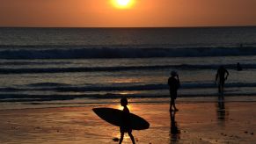
M 256 47 L 17 47 L 0 46 L 0 59 L 107 59 L 256 54 Z

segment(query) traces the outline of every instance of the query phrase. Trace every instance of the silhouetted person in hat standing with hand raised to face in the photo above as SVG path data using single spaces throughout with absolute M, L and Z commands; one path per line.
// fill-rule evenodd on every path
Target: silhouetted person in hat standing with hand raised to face
M 172 106 L 174 108 L 174 111 L 178 111 L 178 109 L 175 106 L 175 99 L 177 98 L 177 90 L 179 89 L 179 75 L 175 72 L 171 72 L 171 77 L 168 79 L 168 85 L 169 85 L 169 90 L 170 90 L 170 97 L 171 97 L 171 102 L 170 102 L 170 112 L 172 112 Z

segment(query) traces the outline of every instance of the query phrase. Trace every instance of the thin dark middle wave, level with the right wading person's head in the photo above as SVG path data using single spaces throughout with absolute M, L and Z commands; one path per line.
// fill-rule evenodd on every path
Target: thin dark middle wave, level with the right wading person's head
M 223 65 L 225 68 L 236 69 L 236 64 Z M 157 66 L 120 66 L 120 67 L 79 67 L 79 68 L 0 68 L 0 74 L 38 74 L 38 73 L 70 73 L 70 72 L 115 72 L 128 70 L 156 69 L 216 69 L 219 65 L 157 65 Z M 243 68 L 256 68 L 256 64 L 243 64 Z

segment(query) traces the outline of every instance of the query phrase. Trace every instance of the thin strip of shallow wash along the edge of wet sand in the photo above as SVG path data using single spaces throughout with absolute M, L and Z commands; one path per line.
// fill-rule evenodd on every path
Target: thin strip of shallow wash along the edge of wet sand
M 170 104 L 170 97 L 135 97 L 129 98 L 129 104 Z M 217 103 L 219 97 L 178 97 L 178 104 L 194 104 L 194 103 Z M 240 102 L 254 103 L 255 96 L 225 96 L 225 103 Z M 62 107 L 87 107 L 87 106 L 108 106 L 120 104 L 120 97 L 116 98 L 75 98 L 72 100 L 54 100 L 54 101 L 31 101 L 31 102 L 2 102 L 0 103 L 0 111 L 2 110 L 19 110 L 19 109 L 40 109 L 40 108 L 62 108 Z

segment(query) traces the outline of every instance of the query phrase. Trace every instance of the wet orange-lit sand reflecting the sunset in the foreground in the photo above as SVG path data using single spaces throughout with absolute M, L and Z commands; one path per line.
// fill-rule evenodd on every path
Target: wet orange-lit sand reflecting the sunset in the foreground
M 129 109 L 150 122 L 150 129 L 133 131 L 137 143 L 254 143 L 255 105 L 179 103 L 172 120 L 169 104 L 130 104 Z M 120 108 L 108 104 L 1 110 L 0 143 L 118 143 L 113 138 L 119 138 L 119 127 L 99 119 L 91 111 L 94 107 Z M 131 143 L 128 135 L 123 143 Z

